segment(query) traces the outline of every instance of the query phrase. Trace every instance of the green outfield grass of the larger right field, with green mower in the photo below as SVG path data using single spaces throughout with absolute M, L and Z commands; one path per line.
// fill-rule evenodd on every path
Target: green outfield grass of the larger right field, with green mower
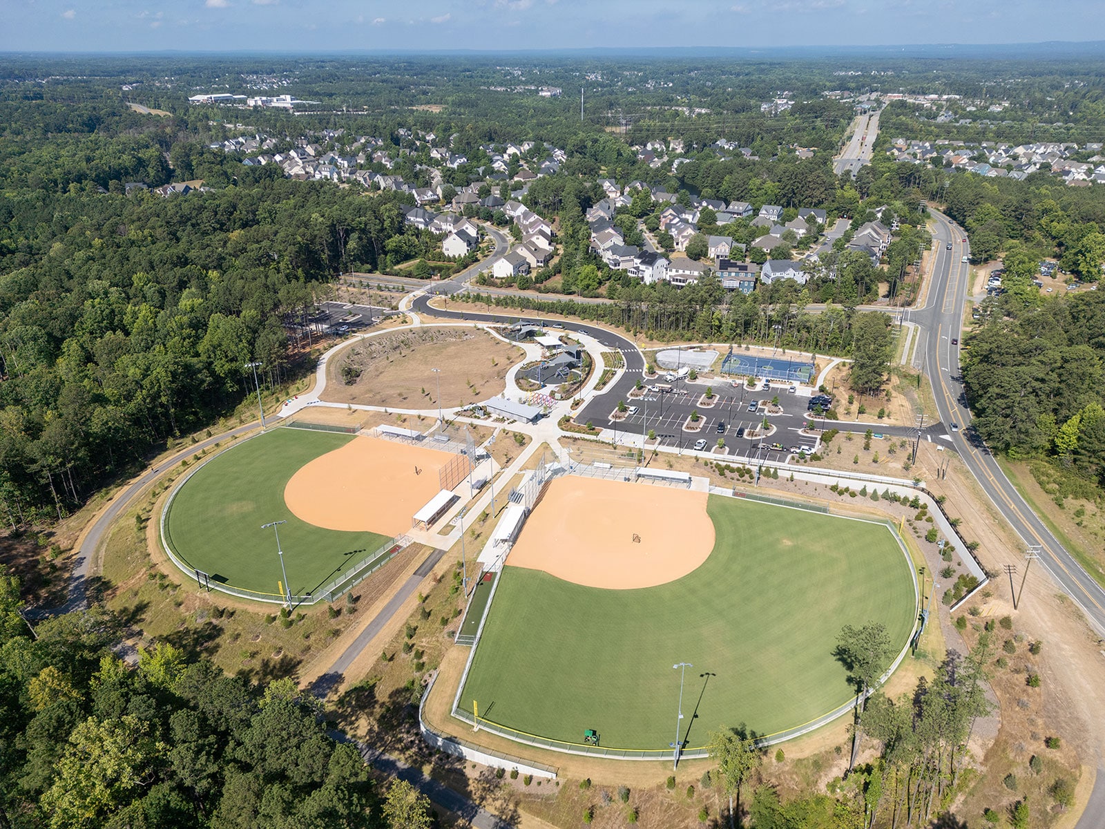
M 594 728 L 603 746 L 661 749 L 675 738 L 672 665 L 691 662 L 682 734 L 696 747 L 718 726 L 771 734 L 846 703 L 832 655 L 844 625 L 881 621 L 895 655 L 905 644 L 912 564 L 885 526 L 714 495 L 708 512 L 714 552 L 660 587 L 505 567 L 461 707 L 554 739 Z

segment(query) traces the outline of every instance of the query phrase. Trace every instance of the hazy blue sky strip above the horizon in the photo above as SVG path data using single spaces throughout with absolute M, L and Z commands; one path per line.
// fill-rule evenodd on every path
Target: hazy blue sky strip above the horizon
M 1051 0 L 1105 40 L 1101 0 Z M 0 51 L 514 50 L 1024 43 L 1039 0 L 0 0 Z

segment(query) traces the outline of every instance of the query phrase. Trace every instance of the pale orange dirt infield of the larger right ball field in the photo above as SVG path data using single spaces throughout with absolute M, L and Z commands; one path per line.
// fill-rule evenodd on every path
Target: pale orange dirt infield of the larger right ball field
M 506 563 L 627 590 L 674 581 L 713 549 L 706 493 L 566 475 L 549 484 Z

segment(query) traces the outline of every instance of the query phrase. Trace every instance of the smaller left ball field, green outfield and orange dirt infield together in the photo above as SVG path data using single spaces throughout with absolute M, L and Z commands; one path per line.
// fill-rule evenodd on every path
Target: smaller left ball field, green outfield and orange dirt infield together
M 177 492 L 166 541 L 225 585 L 280 595 L 276 536 L 293 595 L 316 591 L 389 538 L 438 493 L 452 455 L 387 440 L 274 429 L 215 455 Z

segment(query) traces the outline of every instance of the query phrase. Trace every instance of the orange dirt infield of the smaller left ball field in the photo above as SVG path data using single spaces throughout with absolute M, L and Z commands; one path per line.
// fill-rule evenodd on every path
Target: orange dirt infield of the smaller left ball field
M 284 487 L 284 501 L 296 517 L 315 526 L 399 535 L 441 491 L 438 473 L 454 458 L 358 437 L 296 472 Z

